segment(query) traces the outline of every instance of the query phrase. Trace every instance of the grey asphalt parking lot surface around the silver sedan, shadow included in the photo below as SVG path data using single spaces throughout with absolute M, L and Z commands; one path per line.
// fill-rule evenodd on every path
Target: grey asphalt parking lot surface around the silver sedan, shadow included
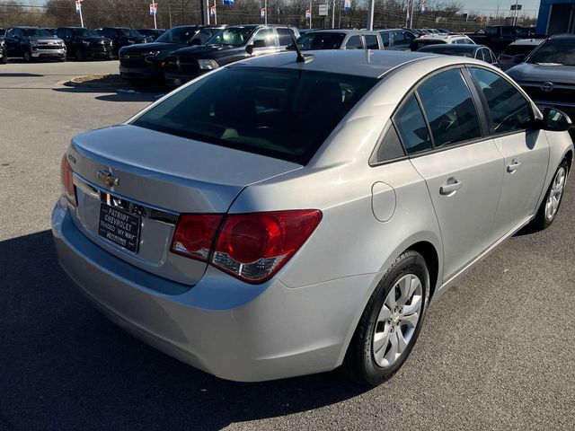
M 435 303 L 371 391 L 337 373 L 226 382 L 107 321 L 58 267 L 49 214 L 70 138 L 160 96 L 61 84 L 117 68 L 0 66 L 0 429 L 573 429 L 572 184 L 555 224 L 517 234 Z

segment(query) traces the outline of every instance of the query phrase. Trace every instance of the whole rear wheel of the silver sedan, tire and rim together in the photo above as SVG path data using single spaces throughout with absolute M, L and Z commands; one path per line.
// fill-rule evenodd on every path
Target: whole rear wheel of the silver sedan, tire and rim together
M 406 251 L 369 298 L 341 371 L 366 386 L 377 386 L 391 378 L 415 345 L 428 301 L 425 259 L 416 251 Z

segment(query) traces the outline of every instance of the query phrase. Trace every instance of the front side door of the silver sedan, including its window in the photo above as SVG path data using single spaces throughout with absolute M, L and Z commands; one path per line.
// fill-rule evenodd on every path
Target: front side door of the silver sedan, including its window
M 549 163 L 542 130 L 529 129 L 531 104 L 508 79 L 481 67 L 469 73 L 486 108 L 490 132 L 504 157 L 503 186 L 491 234 L 497 241 L 535 214 Z

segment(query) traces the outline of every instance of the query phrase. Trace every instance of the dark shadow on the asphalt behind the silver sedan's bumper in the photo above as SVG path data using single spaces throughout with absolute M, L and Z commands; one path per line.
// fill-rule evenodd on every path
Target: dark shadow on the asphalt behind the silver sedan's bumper
M 148 347 L 78 293 L 50 231 L 0 242 L 0 268 L 0 428 L 215 430 L 365 391 L 336 373 L 228 382 Z

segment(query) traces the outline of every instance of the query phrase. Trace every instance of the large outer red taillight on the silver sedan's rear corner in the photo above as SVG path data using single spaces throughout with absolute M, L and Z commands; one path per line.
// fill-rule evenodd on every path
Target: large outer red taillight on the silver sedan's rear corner
M 210 263 L 250 283 L 270 279 L 322 220 L 318 210 L 226 216 Z

